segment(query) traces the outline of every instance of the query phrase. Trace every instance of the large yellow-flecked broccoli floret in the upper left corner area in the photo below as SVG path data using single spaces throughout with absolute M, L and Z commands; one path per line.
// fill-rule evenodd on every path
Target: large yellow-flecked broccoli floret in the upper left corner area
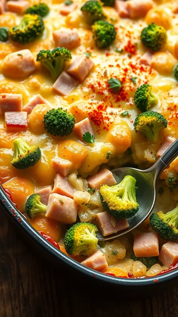
M 25 14 L 19 25 L 9 31 L 12 41 L 19 44 L 27 44 L 34 41 L 43 34 L 44 23 L 41 16 L 37 14 Z

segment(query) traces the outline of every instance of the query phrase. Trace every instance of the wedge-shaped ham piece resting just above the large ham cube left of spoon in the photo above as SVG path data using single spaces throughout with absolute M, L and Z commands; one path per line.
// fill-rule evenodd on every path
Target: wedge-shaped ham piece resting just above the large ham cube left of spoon
M 54 187 L 52 193 L 57 193 L 73 198 L 74 189 L 70 185 L 67 178 L 57 173 L 54 178 Z

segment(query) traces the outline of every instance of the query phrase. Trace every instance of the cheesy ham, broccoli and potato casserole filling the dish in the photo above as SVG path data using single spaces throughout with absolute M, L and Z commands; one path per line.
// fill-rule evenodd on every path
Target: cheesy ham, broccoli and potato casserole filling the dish
M 0 1 L 0 182 L 45 239 L 105 274 L 177 266 L 177 159 L 150 220 L 97 238 L 139 212 L 137 180 L 111 170 L 147 168 L 177 138 L 177 24 L 175 0 Z

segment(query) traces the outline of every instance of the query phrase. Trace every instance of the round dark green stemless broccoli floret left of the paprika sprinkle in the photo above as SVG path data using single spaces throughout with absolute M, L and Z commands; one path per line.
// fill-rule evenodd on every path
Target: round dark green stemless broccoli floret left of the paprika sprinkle
M 51 109 L 44 114 L 43 123 L 48 133 L 63 137 L 64 135 L 72 133 L 75 118 L 71 113 L 68 113 L 62 108 Z

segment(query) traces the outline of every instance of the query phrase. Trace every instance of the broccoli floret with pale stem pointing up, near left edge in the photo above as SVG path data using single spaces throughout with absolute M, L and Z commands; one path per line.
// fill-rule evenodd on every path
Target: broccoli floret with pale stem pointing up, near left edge
M 11 164 L 18 170 L 35 165 L 41 159 L 39 146 L 29 146 L 22 138 L 13 141 L 14 158 Z

